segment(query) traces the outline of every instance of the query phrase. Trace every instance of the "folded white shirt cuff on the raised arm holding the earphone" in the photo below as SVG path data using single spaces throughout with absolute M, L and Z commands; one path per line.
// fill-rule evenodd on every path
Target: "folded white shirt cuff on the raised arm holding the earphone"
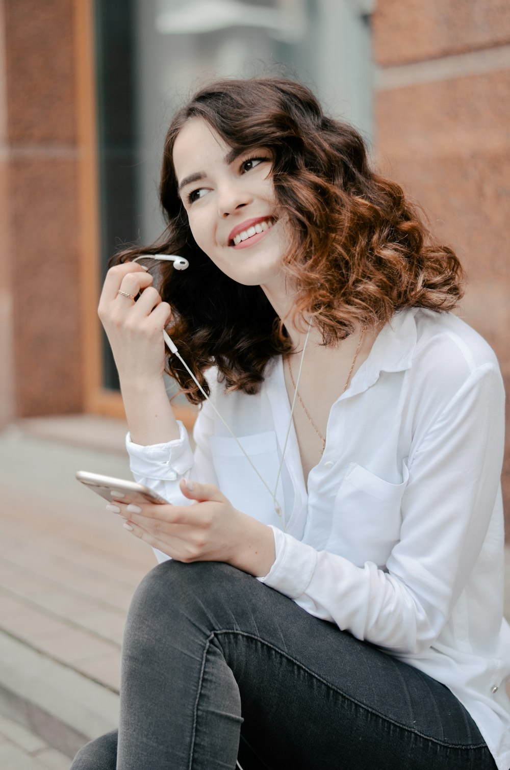
M 151 444 L 143 447 L 140 444 L 133 444 L 131 435 L 127 434 L 126 450 L 133 474 L 162 480 L 174 480 L 178 476 L 186 476 L 193 467 L 193 452 L 186 428 L 180 420 L 177 424 L 179 438 L 167 441 L 166 444 Z

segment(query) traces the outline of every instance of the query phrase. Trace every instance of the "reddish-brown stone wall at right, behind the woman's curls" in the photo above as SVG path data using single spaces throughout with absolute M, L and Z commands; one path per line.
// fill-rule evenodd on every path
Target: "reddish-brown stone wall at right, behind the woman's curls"
M 424 206 L 468 272 L 461 315 L 510 392 L 510 3 L 377 0 L 381 170 Z M 510 536 L 510 425 L 503 472 Z

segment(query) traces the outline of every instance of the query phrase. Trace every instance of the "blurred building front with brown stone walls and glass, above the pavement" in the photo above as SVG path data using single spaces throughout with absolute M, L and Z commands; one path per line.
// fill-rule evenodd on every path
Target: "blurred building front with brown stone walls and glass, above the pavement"
M 96 303 L 158 235 L 173 110 L 214 75 L 287 72 L 361 129 L 468 270 L 461 313 L 510 377 L 506 0 L 2 0 L 0 425 L 122 417 Z M 505 464 L 505 498 L 510 466 Z M 507 505 L 510 511 L 510 506 Z

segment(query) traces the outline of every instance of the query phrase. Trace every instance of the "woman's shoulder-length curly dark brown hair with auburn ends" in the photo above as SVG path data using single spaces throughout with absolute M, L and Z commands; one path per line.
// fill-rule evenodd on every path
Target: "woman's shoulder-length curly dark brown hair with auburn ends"
M 196 117 L 239 154 L 255 147 L 271 152 L 277 206 L 290 223 L 283 263 L 297 289 L 296 317 L 313 316 L 325 345 L 343 340 L 357 324 L 386 323 L 404 307 L 456 305 L 457 256 L 435 243 L 401 187 L 371 170 L 352 126 L 324 115 L 312 92 L 288 79 L 213 82 L 176 112 L 166 135 L 159 189 L 165 232 L 150 246 L 112 258 L 170 253 L 189 260 L 185 271 L 161 267 L 159 290 L 173 309 L 168 333 L 206 391 L 204 372 L 215 364 L 229 390 L 256 393 L 268 360 L 288 353 L 291 344 L 260 286 L 227 277 L 190 232 L 173 146 Z M 167 370 L 191 403 L 203 400 L 179 360 L 169 356 Z

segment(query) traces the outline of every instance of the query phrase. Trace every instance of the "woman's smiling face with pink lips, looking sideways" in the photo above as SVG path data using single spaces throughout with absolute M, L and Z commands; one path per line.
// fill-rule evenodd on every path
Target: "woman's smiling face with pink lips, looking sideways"
M 285 233 L 270 152 L 262 147 L 238 156 L 208 123 L 193 118 L 177 136 L 173 164 L 200 249 L 245 286 L 280 283 Z

